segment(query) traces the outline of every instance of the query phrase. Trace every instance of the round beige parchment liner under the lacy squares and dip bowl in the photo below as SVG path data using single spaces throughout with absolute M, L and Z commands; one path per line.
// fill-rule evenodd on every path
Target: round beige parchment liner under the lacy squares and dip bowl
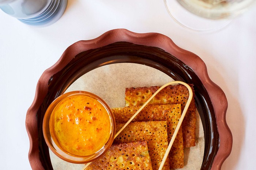
M 173 81 L 165 73 L 149 66 L 135 63 L 117 63 L 94 69 L 76 80 L 65 91 L 83 90 L 96 94 L 108 103 L 111 108 L 125 107 L 125 88 L 162 86 Z M 198 170 L 201 168 L 204 155 L 204 131 L 198 112 L 196 112 L 196 146 L 184 149 L 184 168 Z M 51 150 L 50 158 L 54 170 L 80 170 L 83 164 L 65 162 Z

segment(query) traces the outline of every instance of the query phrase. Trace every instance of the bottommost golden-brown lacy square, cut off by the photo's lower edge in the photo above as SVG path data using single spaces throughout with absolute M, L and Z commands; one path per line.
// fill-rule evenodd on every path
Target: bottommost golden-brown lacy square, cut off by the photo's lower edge
M 152 170 L 146 141 L 113 144 L 99 159 L 93 161 L 86 170 L 138 169 Z

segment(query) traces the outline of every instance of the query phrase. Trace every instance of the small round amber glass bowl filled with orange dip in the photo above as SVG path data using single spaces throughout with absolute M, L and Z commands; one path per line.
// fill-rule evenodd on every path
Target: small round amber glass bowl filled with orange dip
M 71 163 L 88 163 L 101 157 L 112 145 L 115 131 L 108 104 L 85 91 L 56 98 L 43 120 L 46 144 L 59 158 Z

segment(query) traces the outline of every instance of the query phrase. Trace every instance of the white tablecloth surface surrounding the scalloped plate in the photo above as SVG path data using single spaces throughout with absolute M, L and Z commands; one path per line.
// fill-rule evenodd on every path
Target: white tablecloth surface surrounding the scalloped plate
M 116 28 L 164 34 L 203 59 L 229 103 L 226 120 L 233 148 L 222 170 L 255 169 L 255 16 L 253 7 L 220 31 L 197 33 L 181 28 L 163 1 L 155 0 L 68 0 L 60 20 L 44 28 L 27 26 L 0 11 L 0 169 L 31 169 L 25 118 L 44 70 L 74 42 Z

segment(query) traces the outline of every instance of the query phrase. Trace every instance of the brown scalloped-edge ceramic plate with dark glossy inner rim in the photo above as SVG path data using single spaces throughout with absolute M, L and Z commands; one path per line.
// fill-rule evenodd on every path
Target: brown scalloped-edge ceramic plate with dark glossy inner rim
M 74 43 L 40 77 L 26 116 L 32 169 L 53 169 L 42 132 L 44 113 L 50 103 L 82 75 L 113 63 L 150 66 L 173 80 L 194 84 L 196 107 L 204 130 L 201 169 L 221 169 L 231 152 L 233 140 L 226 123 L 227 99 L 222 89 L 210 80 L 205 63 L 165 35 L 138 34 L 124 29 L 111 30 L 96 39 Z

